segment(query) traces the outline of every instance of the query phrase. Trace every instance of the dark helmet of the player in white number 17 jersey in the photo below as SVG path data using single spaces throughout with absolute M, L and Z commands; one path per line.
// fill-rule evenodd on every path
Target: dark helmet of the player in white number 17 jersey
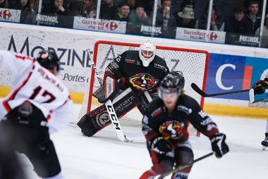
M 55 51 L 51 50 L 42 50 L 39 51 L 36 60 L 38 63 L 47 69 L 52 69 L 56 66 L 57 73 L 59 72 L 59 58 L 56 55 Z

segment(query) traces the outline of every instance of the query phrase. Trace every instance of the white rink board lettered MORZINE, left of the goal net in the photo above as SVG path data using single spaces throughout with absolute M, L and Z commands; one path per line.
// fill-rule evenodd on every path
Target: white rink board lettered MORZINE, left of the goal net
M 2 28 L 3 29 L 3 28 Z M 82 35 L 5 27 L 0 49 L 37 56 L 42 49 L 56 51 L 61 61 L 59 78 L 71 92 L 85 92 L 89 87 L 91 61 L 86 49 L 93 49 L 93 39 Z M 11 86 L 8 72 L 1 71 L 0 86 Z

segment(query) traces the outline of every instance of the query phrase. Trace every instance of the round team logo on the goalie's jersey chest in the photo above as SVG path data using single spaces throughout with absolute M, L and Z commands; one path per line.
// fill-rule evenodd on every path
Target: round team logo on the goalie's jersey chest
M 158 81 L 148 73 L 138 73 L 129 78 L 129 82 L 138 90 L 149 90 L 157 85 Z

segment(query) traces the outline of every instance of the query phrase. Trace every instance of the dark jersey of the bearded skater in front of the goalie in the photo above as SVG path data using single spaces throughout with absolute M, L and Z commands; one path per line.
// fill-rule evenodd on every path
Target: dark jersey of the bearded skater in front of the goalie
M 178 102 L 172 113 L 166 110 L 162 99 L 154 99 L 148 106 L 145 116 L 142 118 L 142 131 L 147 142 L 157 135 L 163 136 L 161 131 L 164 130 L 171 130 L 166 133 L 180 132 L 176 134 L 176 136 L 180 136 L 176 140 L 185 141 L 189 137 L 188 122 L 204 135 L 207 135 L 207 137 L 211 137 L 215 132 L 219 132 L 217 125 L 202 111 L 197 101 L 186 94 L 178 98 Z M 172 123 L 176 123 L 177 126 L 179 125 L 176 130 L 171 128 Z

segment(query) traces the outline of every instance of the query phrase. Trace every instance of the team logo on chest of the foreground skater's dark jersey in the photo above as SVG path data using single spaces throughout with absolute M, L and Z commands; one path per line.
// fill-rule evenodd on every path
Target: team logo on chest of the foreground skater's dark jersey
M 183 135 L 184 123 L 178 121 L 167 121 L 159 126 L 159 132 L 165 140 L 178 140 Z

